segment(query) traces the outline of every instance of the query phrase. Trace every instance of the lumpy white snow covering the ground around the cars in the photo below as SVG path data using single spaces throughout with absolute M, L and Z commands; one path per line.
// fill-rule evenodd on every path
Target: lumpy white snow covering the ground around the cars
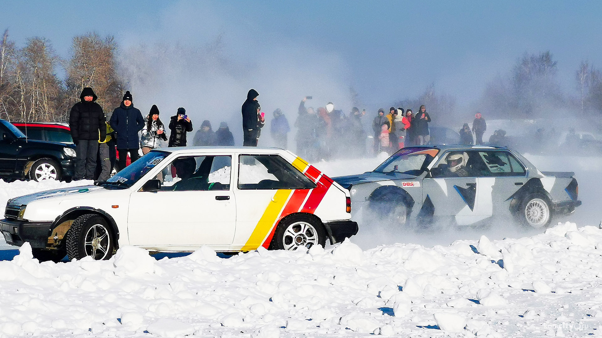
M 568 219 L 595 227 L 563 223 L 526 235 L 498 224 L 480 237 L 474 230 L 397 234 L 361 224 L 382 230 L 377 244 L 388 245 L 370 246 L 377 239 L 365 230 L 326 250 L 258 250 L 229 259 L 201 248 L 157 261 L 123 247 L 104 262 L 39 263 L 25 245 L 14 260 L 0 262 L 0 336 L 602 336 L 602 159 L 528 158 L 544 171 L 576 171 L 583 206 Z M 379 163 L 316 166 L 337 176 Z M 0 205 L 66 185 L 76 184 L 0 182 Z

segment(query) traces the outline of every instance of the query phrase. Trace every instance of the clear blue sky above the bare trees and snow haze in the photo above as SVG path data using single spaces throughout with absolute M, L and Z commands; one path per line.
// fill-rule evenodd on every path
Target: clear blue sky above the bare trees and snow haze
M 63 57 L 73 35 L 87 31 L 113 34 L 122 48 L 206 45 L 221 34 L 238 64 L 253 69 L 269 66 L 267 54 L 291 57 L 289 64 L 319 69 L 311 81 L 323 74 L 353 85 L 368 106 L 417 96 L 432 82 L 468 105 L 524 52 L 550 49 L 563 88 L 573 91 L 581 60 L 602 67 L 601 10 L 595 1 L 4 0 L 0 28 L 18 44 L 49 38 Z M 243 82 L 270 80 L 261 76 Z

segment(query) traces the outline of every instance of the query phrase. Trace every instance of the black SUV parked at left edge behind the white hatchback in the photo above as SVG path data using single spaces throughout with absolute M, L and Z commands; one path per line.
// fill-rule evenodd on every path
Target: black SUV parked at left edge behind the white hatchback
M 0 178 L 70 180 L 75 145 L 29 140 L 13 124 L 0 119 Z

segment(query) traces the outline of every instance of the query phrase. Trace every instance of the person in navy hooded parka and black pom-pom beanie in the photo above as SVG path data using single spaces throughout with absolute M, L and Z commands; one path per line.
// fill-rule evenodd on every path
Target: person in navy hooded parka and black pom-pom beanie
M 123 100 L 119 107 L 115 108 L 109 122 L 111 128 L 117 134 L 117 152 L 119 152 L 119 170 L 126 166 L 128 157 L 132 162 L 138 159 L 138 149 L 140 149 L 140 139 L 138 132 L 144 128 L 144 118 L 138 108 L 134 107 L 132 94 L 129 90 L 123 95 Z

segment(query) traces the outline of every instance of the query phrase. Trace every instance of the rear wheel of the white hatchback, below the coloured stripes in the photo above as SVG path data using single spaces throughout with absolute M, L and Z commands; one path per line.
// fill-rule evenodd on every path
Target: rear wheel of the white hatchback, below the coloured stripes
M 326 245 L 324 226 L 310 215 L 293 215 L 278 224 L 274 235 L 276 250 L 302 250 Z

